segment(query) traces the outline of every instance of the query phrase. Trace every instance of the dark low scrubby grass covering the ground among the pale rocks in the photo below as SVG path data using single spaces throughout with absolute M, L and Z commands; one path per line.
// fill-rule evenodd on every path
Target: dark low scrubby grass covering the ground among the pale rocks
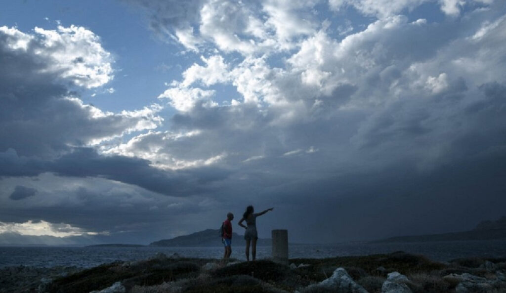
M 336 291 L 311 287 L 343 267 L 348 274 L 369 293 L 381 292 L 387 274 L 398 271 L 409 278 L 406 285 L 413 293 L 454 293 L 458 278 L 449 274 L 470 273 L 491 280 L 495 271 L 483 268 L 486 261 L 504 273 L 506 259 L 458 259 L 439 263 L 424 256 L 403 252 L 371 256 L 335 257 L 326 259 L 292 259 L 290 263 L 309 266 L 290 269 L 268 260 L 241 262 L 214 270 L 202 267 L 209 259 L 154 259 L 132 263 L 112 263 L 56 279 L 49 293 L 85 292 L 99 290 L 121 281 L 130 293 L 285 293 L 298 290 L 303 293 Z M 385 270 L 378 270 L 379 267 Z M 506 287 L 506 285 L 504 285 Z M 324 291 L 322 291 L 324 290 Z M 501 283 L 494 284 L 483 293 L 506 293 Z

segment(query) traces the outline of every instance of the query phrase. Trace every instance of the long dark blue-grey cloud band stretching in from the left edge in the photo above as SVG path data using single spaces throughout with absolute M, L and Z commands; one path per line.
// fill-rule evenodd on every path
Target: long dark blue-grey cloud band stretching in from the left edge
M 150 166 L 150 161 L 125 156 L 102 156 L 92 148 L 74 148 L 53 161 L 18 157 L 10 150 L 0 153 L 0 177 L 37 176 L 51 172 L 59 176 L 100 177 L 133 184 L 171 196 L 190 196 L 213 189 L 213 182 L 223 180 L 228 171 L 200 168 L 186 171 L 164 171 Z

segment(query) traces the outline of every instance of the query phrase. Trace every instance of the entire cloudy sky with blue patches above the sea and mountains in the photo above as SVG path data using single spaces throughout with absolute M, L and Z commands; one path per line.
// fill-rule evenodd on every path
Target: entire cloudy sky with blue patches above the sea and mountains
M 506 215 L 504 1 L 1 2 L 0 244 Z

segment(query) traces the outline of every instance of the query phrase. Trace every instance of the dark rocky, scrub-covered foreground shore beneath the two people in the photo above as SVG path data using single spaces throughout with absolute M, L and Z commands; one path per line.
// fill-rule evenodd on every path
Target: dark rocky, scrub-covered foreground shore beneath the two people
M 189 259 L 159 254 L 91 269 L 0 270 L 0 292 L 172 293 L 506 293 L 506 259 L 433 262 L 402 252 L 362 257 L 269 260 Z

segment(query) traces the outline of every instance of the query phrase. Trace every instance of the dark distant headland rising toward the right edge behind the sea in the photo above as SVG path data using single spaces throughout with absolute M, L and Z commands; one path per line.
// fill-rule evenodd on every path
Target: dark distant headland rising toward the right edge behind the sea
M 502 217 L 497 221 L 483 221 L 478 224 L 475 229 L 470 231 L 444 234 L 398 236 L 372 242 L 429 242 L 491 239 L 506 239 L 506 217 Z

